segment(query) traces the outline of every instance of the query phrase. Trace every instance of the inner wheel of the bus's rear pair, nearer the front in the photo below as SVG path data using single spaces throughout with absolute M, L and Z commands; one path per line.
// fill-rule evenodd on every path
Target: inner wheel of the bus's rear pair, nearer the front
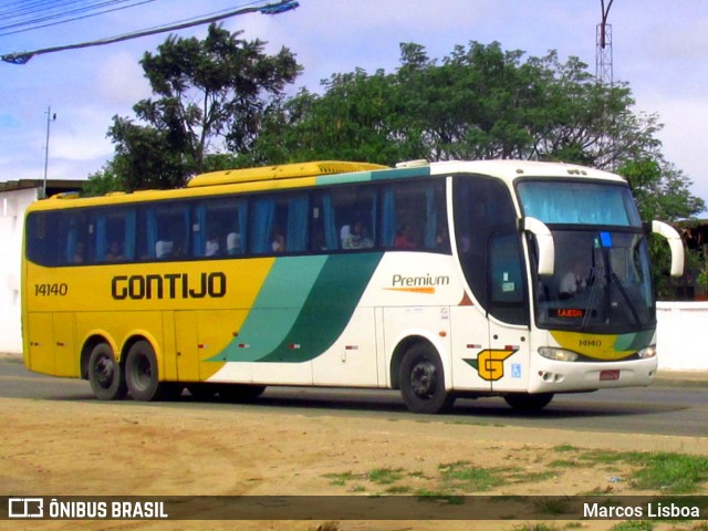
M 140 402 L 162 400 L 176 395 L 175 385 L 160 382 L 157 357 L 147 341 L 136 342 L 125 358 L 125 383 L 131 396 Z

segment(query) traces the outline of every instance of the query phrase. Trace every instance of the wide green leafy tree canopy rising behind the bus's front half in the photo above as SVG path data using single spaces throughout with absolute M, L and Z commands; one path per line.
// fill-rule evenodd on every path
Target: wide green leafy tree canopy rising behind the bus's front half
M 323 88 L 270 108 L 249 157 L 532 158 L 613 169 L 658 143 L 655 119 L 632 113 L 627 85 L 597 84 L 576 58 L 524 60 L 497 42 L 455 46 L 439 63 L 404 43 L 395 73 L 334 74 Z

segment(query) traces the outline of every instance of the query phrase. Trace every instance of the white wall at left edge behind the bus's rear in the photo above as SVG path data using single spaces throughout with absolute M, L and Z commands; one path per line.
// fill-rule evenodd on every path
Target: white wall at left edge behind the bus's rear
M 38 188 L 0 192 L 0 352 L 21 353 L 20 257 L 24 210 Z

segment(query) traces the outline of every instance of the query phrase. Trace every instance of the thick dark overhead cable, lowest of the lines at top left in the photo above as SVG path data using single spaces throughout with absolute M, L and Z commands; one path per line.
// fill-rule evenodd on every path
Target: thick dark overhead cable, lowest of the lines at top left
M 148 1 L 150 1 L 150 0 L 148 0 Z M 251 2 L 251 3 L 258 3 L 258 2 Z M 231 10 L 231 11 L 222 12 L 222 13 L 219 13 L 219 14 L 214 14 L 211 17 L 207 17 L 207 18 L 202 18 L 202 19 L 198 19 L 198 20 L 190 20 L 190 21 L 187 21 L 187 22 L 176 23 L 176 24 L 173 24 L 173 25 L 159 27 L 159 28 L 137 31 L 137 32 L 133 32 L 133 33 L 126 33 L 126 34 L 123 34 L 123 35 L 113 37 L 113 38 L 108 38 L 108 39 L 101 39 L 101 40 L 97 40 L 97 41 L 82 42 L 82 43 L 79 43 L 79 44 L 67 44 L 67 45 L 63 45 L 63 46 L 44 48 L 44 49 L 35 50 L 35 51 L 32 51 L 32 52 L 9 53 L 9 54 L 1 55 L 0 59 L 2 59 L 2 61 L 4 61 L 4 62 L 12 63 L 12 64 L 27 64 L 28 61 L 30 61 L 30 59 L 32 59 L 33 56 L 40 55 L 40 54 L 44 54 L 44 53 L 53 53 L 53 52 L 61 52 L 61 51 L 64 51 L 64 50 L 76 50 L 76 49 L 81 49 L 81 48 L 102 46 L 102 45 L 105 45 L 105 44 L 114 44 L 116 42 L 127 41 L 127 40 L 132 40 L 132 39 L 138 39 L 140 37 L 148 37 L 148 35 L 154 35 L 154 34 L 158 34 L 158 33 L 165 33 L 167 31 L 184 30 L 186 28 L 192 28 L 195 25 L 209 24 L 211 22 L 217 22 L 219 20 L 228 19 L 228 18 L 231 18 L 231 17 L 238 17 L 240 14 L 247 14 L 247 13 L 260 12 L 262 14 L 280 14 L 280 13 L 283 13 L 285 11 L 293 10 L 293 9 L 295 9 L 298 7 L 300 7 L 300 3 L 294 1 L 294 0 L 281 0 L 280 2 L 275 2 L 275 3 L 268 3 L 266 6 L 251 7 L 251 8 L 240 8 L 240 9 L 237 9 L 237 10 Z

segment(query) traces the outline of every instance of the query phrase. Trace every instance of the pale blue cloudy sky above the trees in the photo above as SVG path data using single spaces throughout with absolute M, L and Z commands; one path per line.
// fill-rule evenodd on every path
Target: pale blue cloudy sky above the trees
M 294 11 L 222 22 L 229 31 L 242 30 L 244 39 L 267 41 L 269 53 L 281 46 L 295 53 L 304 72 L 293 90 L 317 91 L 321 80 L 356 67 L 393 72 L 402 42 L 424 45 L 430 59 L 441 59 L 470 41 L 497 41 L 525 56 L 555 50 L 561 61 L 577 56 L 595 72 L 600 0 L 299 1 Z M 0 13 L 20 3 L 0 0 Z M 0 55 L 105 39 L 253 3 L 143 2 L 66 24 L 0 34 Z M 608 23 L 614 81 L 629 84 L 635 112 L 658 115 L 664 128 L 657 137 L 666 159 L 693 180 L 691 192 L 708 204 L 708 175 L 702 168 L 708 138 L 708 2 L 615 0 Z M 206 31 L 202 25 L 176 34 L 201 39 Z M 0 181 L 43 178 L 45 155 L 49 179 L 83 179 L 100 170 L 113 156 L 114 146 L 106 138 L 113 116 L 133 117 L 133 105 L 150 96 L 139 60 L 166 38 L 163 33 L 48 53 L 24 65 L 1 62 Z M 56 119 L 48 121 L 54 114 Z

